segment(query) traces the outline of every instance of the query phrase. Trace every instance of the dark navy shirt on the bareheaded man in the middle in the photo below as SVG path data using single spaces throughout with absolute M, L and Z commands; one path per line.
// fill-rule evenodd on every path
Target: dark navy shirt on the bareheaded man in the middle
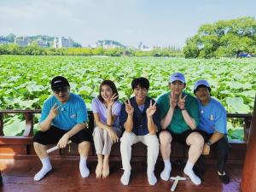
M 146 97 L 146 101 L 144 103 L 143 111 L 141 111 L 140 107 L 137 105 L 135 96 L 131 97 L 130 102 L 131 106 L 134 108 L 133 112 L 133 128 L 132 132 L 137 136 L 145 136 L 149 133 L 148 131 L 148 118 L 146 114 L 146 110 L 150 105 L 150 100 L 152 100 L 152 104 L 154 104 L 154 99 L 150 97 Z M 123 129 L 125 129 L 124 124 L 127 120 L 128 114 L 125 111 L 125 103 L 122 105 L 121 113 L 119 116 L 120 124 Z M 156 104 L 156 111 L 153 114 L 154 125 L 157 126 L 157 129 L 160 130 L 160 112 L 158 105 Z

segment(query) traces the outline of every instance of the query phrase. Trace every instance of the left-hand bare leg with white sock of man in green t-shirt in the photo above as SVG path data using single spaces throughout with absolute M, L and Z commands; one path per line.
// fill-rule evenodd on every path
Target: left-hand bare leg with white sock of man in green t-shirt
M 170 161 L 172 135 L 169 131 L 161 131 L 159 137 L 160 137 L 160 151 L 165 163 L 165 168 L 161 172 L 160 177 L 162 180 L 168 181 L 172 171 L 172 165 Z

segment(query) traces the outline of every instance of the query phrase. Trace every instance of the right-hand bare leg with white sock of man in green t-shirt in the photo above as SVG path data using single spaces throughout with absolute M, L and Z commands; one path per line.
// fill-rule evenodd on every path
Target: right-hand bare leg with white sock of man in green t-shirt
M 202 148 L 204 146 L 204 138 L 198 132 L 192 132 L 186 138 L 186 143 L 189 145 L 189 160 L 183 170 L 183 172 L 188 175 L 191 181 L 195 184 L 201 184 L 201 179 L 195 175 L 193 171 L 193 166 L 196 160 L 201 155 Z

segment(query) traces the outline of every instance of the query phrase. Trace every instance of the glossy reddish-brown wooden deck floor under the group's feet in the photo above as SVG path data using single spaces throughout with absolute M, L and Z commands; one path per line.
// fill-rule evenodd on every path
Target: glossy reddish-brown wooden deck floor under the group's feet
M 157 163 L 156 176 L 158 183 L 150 186 L 147 180 L 146 165 L 143 162 L 132 162 L 131 182 L 123 186 L 119 182 L 123 171 L 121 164 L 110 162 L 110 176 L 106 179 L 96 179 L 96 162 L 89 162 L 90 177 L 83 178 L 79 174 L 78 160 L 52 160 L 54 170 L 40 182 L 35 182 L 33 176 L 41 168 L 39 160 L 0 160 L 3 175 L 3 187 L 6 192 L 21 191 L 83 191 L 83 192 L 161 192 L 170 191 L 172 183 L 160 180 L 160 171 L 163 168 L 161 162 Z M 215 165 L 207 165 L 207 172 L 200 186 L 191 183 L 190 180 L 179 182 L 176 191 L 186 192 L 236 192 L 240 191 L 242 165 L 230 164 L 227 166 L 231 181 L 224 185 L 218 180 Z M 183 166 L 172 165 L 172 176 L 183 176 Z

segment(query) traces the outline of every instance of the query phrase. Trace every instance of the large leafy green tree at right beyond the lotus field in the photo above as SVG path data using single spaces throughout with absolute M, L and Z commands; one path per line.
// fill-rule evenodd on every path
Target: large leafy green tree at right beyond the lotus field
M 202 25 L 183 48 L 186 58 L 232 57 L 239 52 L 256 55 L 256 20 L 241 17 Z

